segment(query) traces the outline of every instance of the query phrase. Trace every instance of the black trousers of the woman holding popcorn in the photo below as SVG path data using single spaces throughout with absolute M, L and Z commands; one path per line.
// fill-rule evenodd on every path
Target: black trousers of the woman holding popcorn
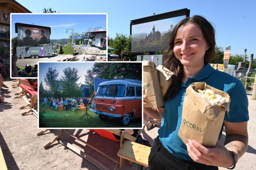
M 218 167 L 183 160 L 170 153 L 159 140 L 155 139 L 148 158 L 149 170 L 218 170 Z

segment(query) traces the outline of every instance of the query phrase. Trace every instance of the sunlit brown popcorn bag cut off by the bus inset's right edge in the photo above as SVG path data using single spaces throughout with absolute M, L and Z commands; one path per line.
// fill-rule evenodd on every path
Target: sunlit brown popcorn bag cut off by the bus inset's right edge
M 144 99 L 148 102 L 143 107 L 160 107 L 163 106 L 163 97 L 158 81 L 156 65 L 152 61 L 143 61 L 143 90 L 144 95 L 147 96 Z

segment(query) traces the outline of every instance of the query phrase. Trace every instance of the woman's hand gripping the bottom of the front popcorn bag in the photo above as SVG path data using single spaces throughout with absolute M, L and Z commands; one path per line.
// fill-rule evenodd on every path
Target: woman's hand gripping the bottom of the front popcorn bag
M 232 154 L 219 140 L 215 147 L 204 147 L 197 141 L 188 139 L 187 150 L 188 155 L 201 164 L 224 168 L 234 165 Z

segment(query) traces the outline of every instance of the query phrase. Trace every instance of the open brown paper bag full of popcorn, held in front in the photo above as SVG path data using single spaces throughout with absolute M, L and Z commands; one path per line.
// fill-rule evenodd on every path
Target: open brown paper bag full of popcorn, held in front
M 220 106 L 212 105 L 196 92 L 210 89 L 226 98 Z M 214 97 L 215 98 L 215 97 Z M 216 97 L 218 100 L 218 97 Z M 187 89 L 183 102 L 182 119 L 178 135 L 186 144 L 193 139 L 205 147 L 214 147 L 219 137 L 225 112 L 229 112 L 229 95 L 221 90 L 208 86 L 205 82 L 192 83 Z M 215 101 L 216 102 L 216 101 Z

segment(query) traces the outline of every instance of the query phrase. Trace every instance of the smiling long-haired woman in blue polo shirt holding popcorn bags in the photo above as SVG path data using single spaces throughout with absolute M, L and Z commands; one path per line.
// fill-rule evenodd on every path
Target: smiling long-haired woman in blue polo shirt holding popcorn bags
M 248 99 L 241 81 L 209 64 L 215 57 L 213 26 L 197 15 L 181 20 L 171 32 L 166 54 L 163 65 L 176 76 L 172 76 L 171 86 L 164 96 L 164 108 L 144 108 L 148 116 L 162 118 L 159 136 L 149 155 L 149 169 L 184 169 L 188 165 L 189 169 L 202 170 L 234 168 L 234 160 L 237 161 L 248 146 Z M 201 131 L 193 122 L 182 120 L 186 89 L 195 82 L 205 82 L 231 97 L 229 115 L 226 112 L 222 123 L 222 129 L 225 126 L 226 130 L 224 145 L 217 141 L 216 146 L 210 148 L 192 139 L 183 143 L 177 135 L 181 122 L 188 128 Z M 143 104 L 147 105 L 147 102 L 144 100 Z M 219 140 L 222 129 L 220 132 L 216 127 L 214 129 L 219 132 Z

